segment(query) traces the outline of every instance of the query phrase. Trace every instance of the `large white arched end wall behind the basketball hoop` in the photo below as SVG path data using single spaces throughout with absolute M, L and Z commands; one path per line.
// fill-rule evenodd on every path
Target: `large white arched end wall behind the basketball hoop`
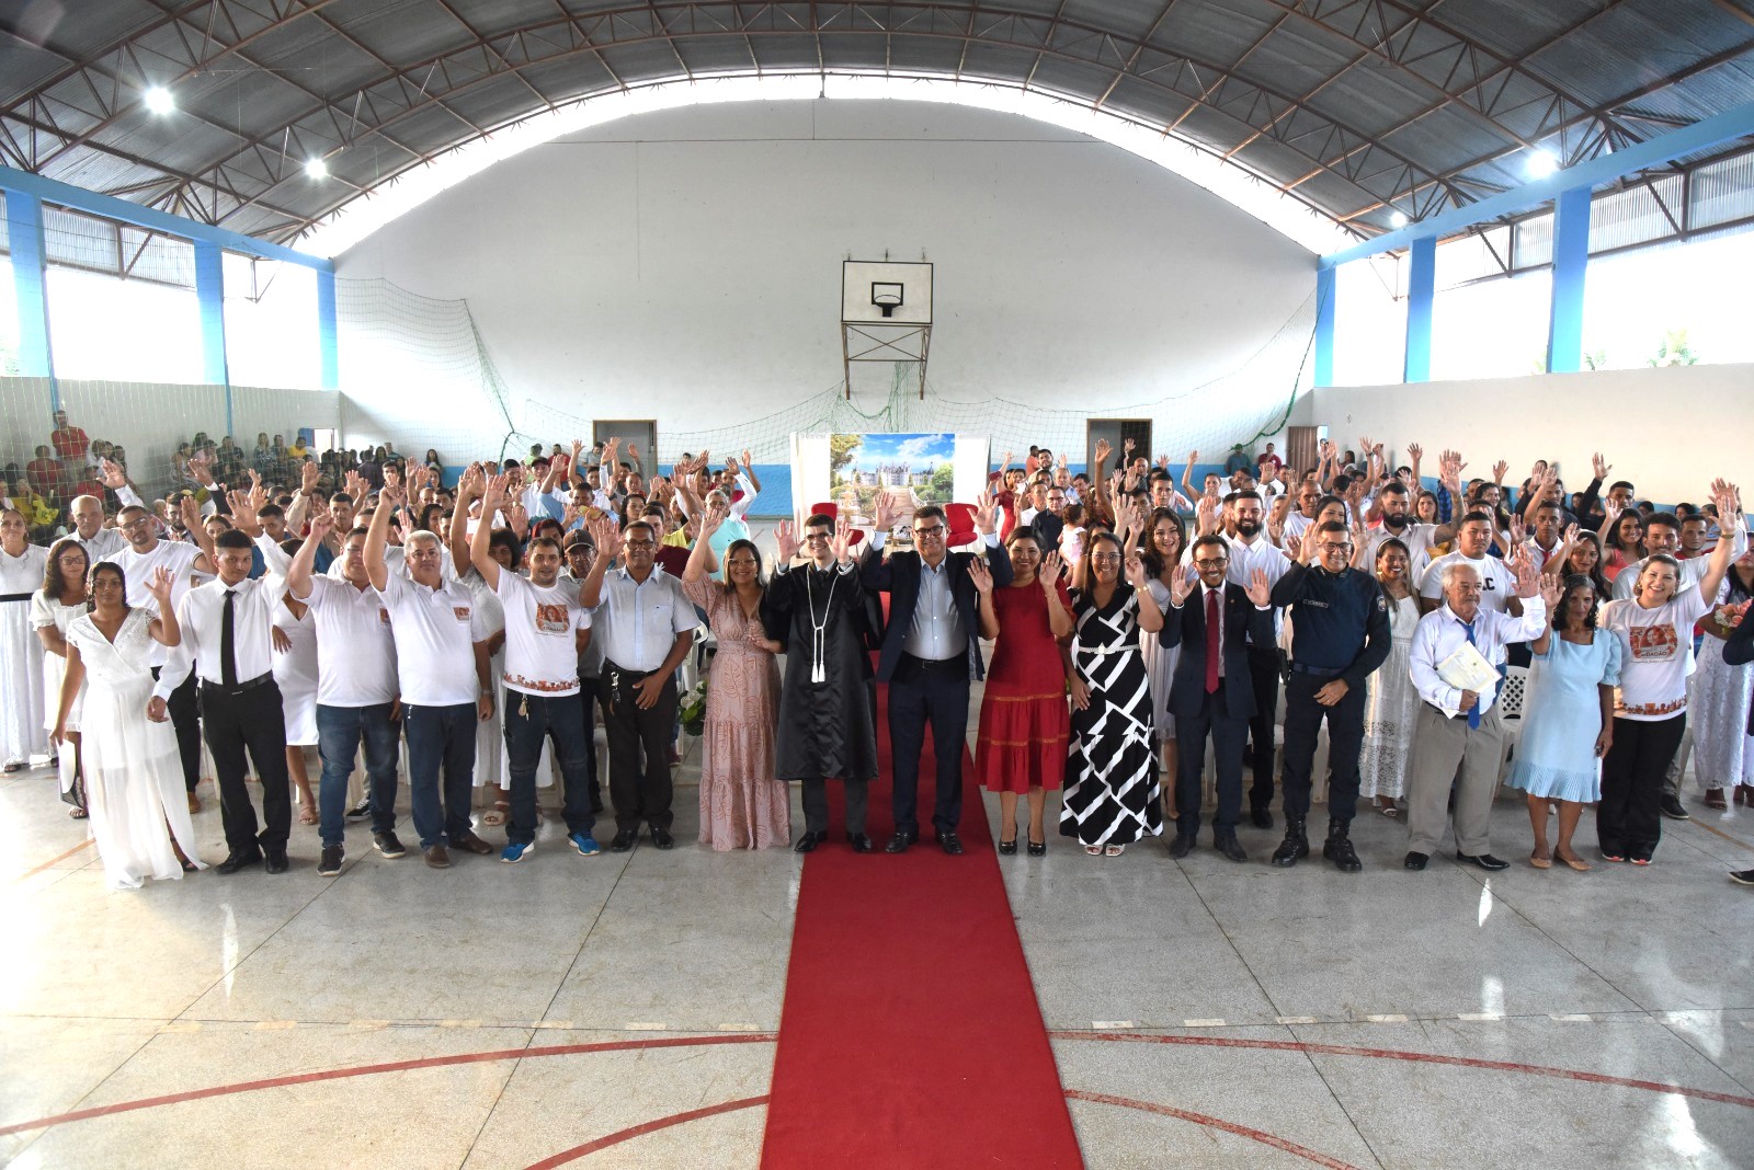
M 1082 440 L 1084 415 L 1172 394 L 1154 445 L 1226 448 L 1277 424 L 1307 357 L 1314 257 L 1194 184 L 1009 114 L 817 100 L 610 123 L 391 222 L 337 257 L 342 384 L 370 429 L 447 438 L 426 384 L 365 356 L 384 314 L 349 312 L 347 289 L 382 278 L 467 301 L 505 401 L 446 391 L 447 420 L 572 438 L 656 417 L 663 445 L 838 385 L 840 263 L 884 252 L 937 266 L 924 420 L 933 399 L 1003 398 L 958 417 L 995 452 L 1037 410 L 1077 412 Z M 407 352 L 417 321 L 396 315 Z M 877 410 L 866 385 L 856 405 Z

